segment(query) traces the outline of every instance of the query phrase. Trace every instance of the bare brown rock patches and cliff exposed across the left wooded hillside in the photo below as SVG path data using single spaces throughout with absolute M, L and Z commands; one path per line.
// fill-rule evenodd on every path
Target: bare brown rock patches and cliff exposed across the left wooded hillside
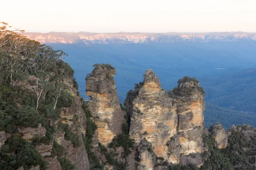
M 84 111 L 81 108 L 81 97 L 77 95 L 77 89 L 73 87 L 73 79 L 65 78 L 62 82 L 67 85 L 68 92 L 74 96 L 75 102 L 69 108 L 61 108 L 60 118 L 57 120 L 49 120 L 51 126 L 56 128 L 56 133 L 53 134 L 53 139 L 58 142 L 65 152 L 65 158 L 70 159 L 71 163 L 75 165 L 74 170 L 90 170 L 90 165 L 87 157 L 87 152 L 84 147 L 82 137 L 86 132 L 86 117 Z M 77 119 L 74 119 L 74 118 Z M 73 144 L 65 139 L 65 131 L 59 127 L 59 123 L 69 124 L 70 130 L 78 137 L 78 146 L 74 147 Z M 20 133 L 24 140 L 32 142 L 36 136 L 45 136 L 47 130 L 45 127 L 20 127 L 17 128 L 17 132 Z M 10 137 L 11 135 L 9 135 Z M 0 131 L 0 147 L 4 144 L 8 138 L 8 134 Z M 42 156 L 43 160 L 48 162 L 46 170 L 61 170 L 61 165 L 57 160 L 57 156 L 52 154 L 53 141 L 49 144 L 40 143 L 35 146 L 38 153 Z M 20 167 L 23 170 L 23 167 Z M 40 170 L 40 166 L 33 166 L 29 170 Z

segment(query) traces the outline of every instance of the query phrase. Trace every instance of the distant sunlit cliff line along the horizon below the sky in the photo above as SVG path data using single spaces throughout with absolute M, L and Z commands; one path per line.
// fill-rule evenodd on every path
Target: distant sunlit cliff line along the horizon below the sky
M 236 42 L 256 41 L 256 33 L 248 32 L 169 32 L 169 33 L 91 33 L 91 32 L 49 32 L 49 33 L 23 33 L 32 40 L 41 43 L 70 43 L 70 44 L 125 44 L 150 42 Z

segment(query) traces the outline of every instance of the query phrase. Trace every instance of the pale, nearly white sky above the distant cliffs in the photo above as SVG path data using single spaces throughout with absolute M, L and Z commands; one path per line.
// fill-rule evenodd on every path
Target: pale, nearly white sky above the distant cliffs
M 26 32 L 256 32 L 256 0 L 1 0 Z

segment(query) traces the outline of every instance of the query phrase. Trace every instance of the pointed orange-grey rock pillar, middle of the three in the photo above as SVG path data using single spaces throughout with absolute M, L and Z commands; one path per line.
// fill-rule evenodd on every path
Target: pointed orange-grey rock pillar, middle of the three
M 158 157 L 168 159 L 167 142 L 177 133 L 177 123 L 173 99 L 161 88 L 156 74 L 147 70 L 144 85 L 133 101 L 130 137 L 137 145 L 145 137 L 154 147 L 154 153 Z

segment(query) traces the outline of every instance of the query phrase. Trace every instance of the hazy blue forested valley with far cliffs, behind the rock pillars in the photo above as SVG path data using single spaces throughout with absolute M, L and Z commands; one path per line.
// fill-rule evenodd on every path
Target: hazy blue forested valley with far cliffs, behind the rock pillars
M 81 35 L 87 36 L 84 39 Z M 64 61 L 75 70 L 81 96 L 85 74 L 95 63 L 116 67 L 120 102 L 152 69 L 166 90 L 183 76 L 196 77 L 206 91 L 205 124 L 256 125 L 255 33 L 26 33 L 69 54 Z M 78 36 L 80 35 L 80 37 Z M 140 36 L 138 36 L 140 35 Z M 154 37 L 154 38 L 152 38 Z M 234 86 L 236 85 L 236 86 Z M 241 119 L 243 115 L 243 119 Z M 236 123 L 234 123 L 236 122 Z

